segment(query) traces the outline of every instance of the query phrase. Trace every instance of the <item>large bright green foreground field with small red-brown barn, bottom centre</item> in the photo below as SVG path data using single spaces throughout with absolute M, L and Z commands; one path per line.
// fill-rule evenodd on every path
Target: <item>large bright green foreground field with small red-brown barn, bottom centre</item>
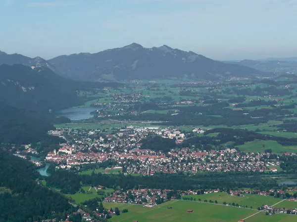
M 198 202 L 187 202 L 181 200 L 169 201 L 155 207 L 144 207 L 142 205 L 119 205 L 105 204 L 104 207 L 119 207 L 128 209 L 129 212 L 119 216 L 113 216 L 111 222 L 238 222 L 256 211 L 240 209 L 222 205 L 205 204 Z M 172 209 L 167 209 L 172 207 Z M 187 213 L 193 210 L 193 213 Z

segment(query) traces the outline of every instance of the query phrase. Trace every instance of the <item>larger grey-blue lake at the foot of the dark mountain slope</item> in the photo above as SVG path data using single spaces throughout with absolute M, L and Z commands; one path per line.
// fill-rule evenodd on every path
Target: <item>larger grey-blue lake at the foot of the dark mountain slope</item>
M 81 120 L 81 119 L 89 119 L 92 118 L 93 115 L 91 112 L 98 110 L 98 108 L 94 107 L 86 107 L 86 108 L 68 108 L 65 110 L 60 110 L 55 113 L 56 116 L 66 116 L 71 120 Z

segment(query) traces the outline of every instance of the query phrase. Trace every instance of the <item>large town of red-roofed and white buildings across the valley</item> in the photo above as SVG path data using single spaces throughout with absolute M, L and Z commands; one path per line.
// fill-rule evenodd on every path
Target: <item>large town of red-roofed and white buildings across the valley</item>
M 204 131 L 194 129 L 193 133 Z M 45 158 L 54 162 L 57 168 L 79 168 L 81 164 L 100 163 L 112 160 L 112 167 L 120 167 L 125 174 L 154 175 L 158 173 L 200 172 L 232 172 L 252 171 L 277 172 L 280 162 L 270 160 L 270 153 L 243 153 L 235 148 L 200 150 L 196 148 L 171 149 L 168 152 L 141 149 L 141 140 L 148 135 L 158 135 L 170 138 L 176 144 L 187 138 L 187 133 L 178 129 L 159 129 L 158 127 L 126 127 L 115 134 L 100 134 L 97 130 L 68 130 L 57 129 L 49 134 L 67 139 L 67 143 L 60 144 L 60 148 L 49 152 Z M 101 136 L 100 136 L 101 135 Z M 30 154 L 36 150 L 25 146 L 17 154 Z M 295 155 L 295 153 L 284 153 Z M 36 165 L 39 162 L 33 161 Z

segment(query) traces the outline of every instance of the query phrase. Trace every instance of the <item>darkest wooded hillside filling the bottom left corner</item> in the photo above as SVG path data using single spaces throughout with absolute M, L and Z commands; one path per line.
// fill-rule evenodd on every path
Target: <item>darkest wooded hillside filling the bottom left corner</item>
M 0 222 L 41 221 L 65 215 L 73 207 L 58 192 L 35 182 L 34 165 L 0 149 Z

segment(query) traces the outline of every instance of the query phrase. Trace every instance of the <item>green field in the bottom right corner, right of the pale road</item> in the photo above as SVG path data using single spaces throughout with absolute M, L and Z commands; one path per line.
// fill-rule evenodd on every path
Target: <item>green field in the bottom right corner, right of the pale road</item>
M 275 214 L 272 216 L 265 215 L 264 212 L 258 213 L 246 220 L 246 222 L 296 222 L 297 215 Z

